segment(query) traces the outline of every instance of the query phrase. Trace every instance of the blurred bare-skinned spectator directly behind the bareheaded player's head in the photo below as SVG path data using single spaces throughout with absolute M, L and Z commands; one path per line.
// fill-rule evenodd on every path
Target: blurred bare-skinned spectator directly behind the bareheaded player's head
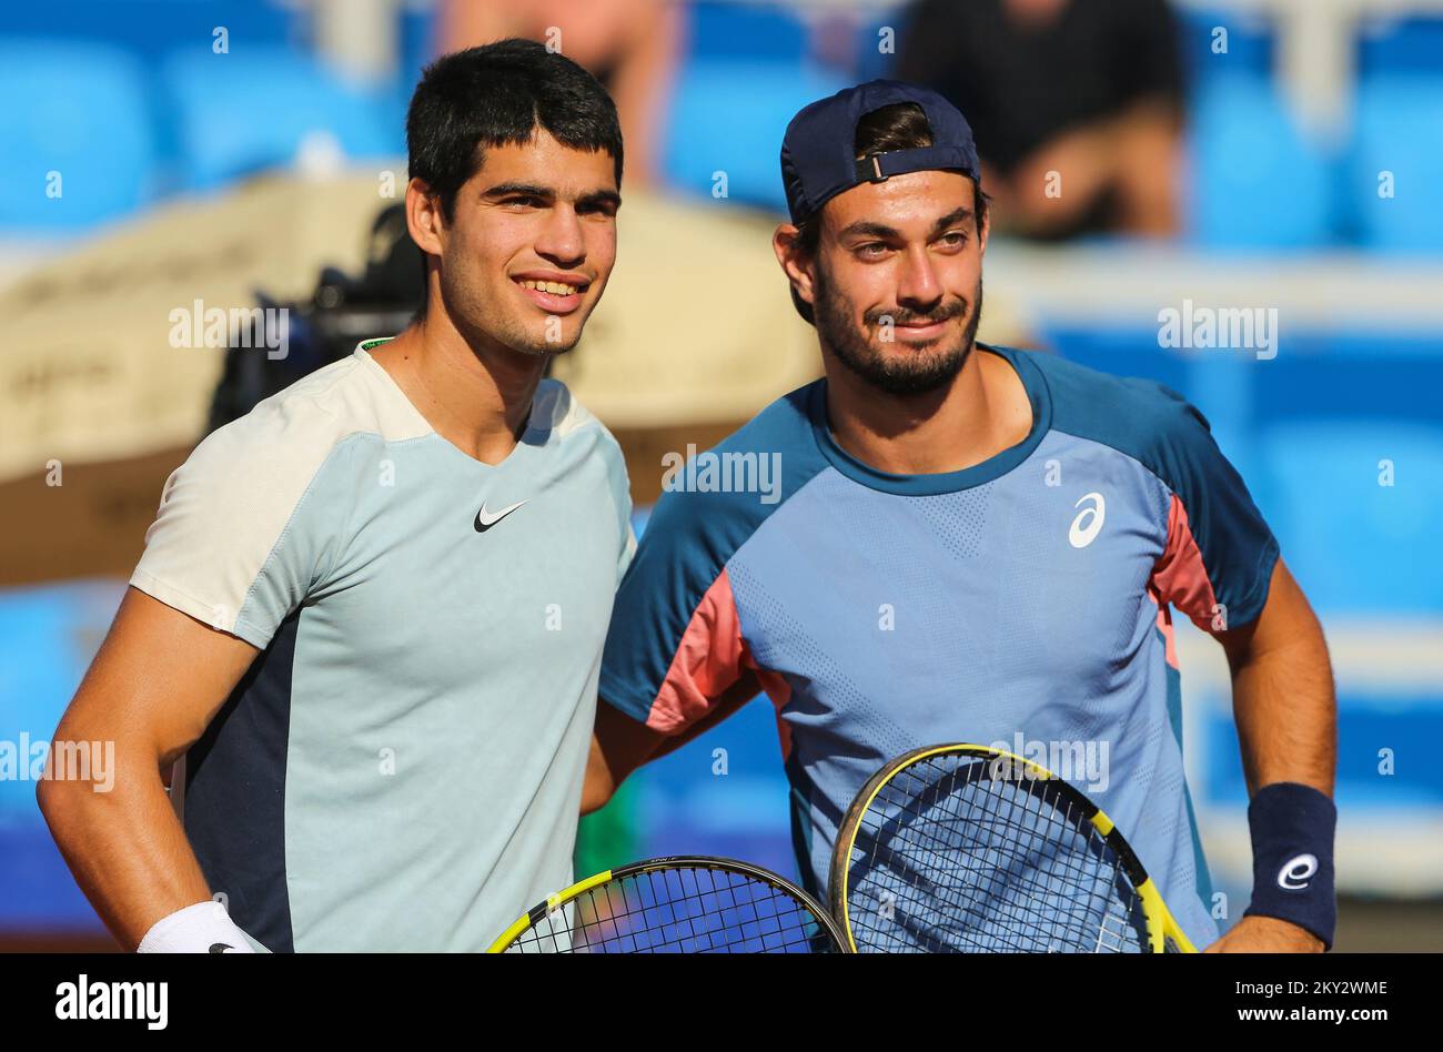
M 439 49 L 505 36 L 540 40 L 584 66 L 616 101 L 626 182 L 658 180 L 662 107 L 671 94 L 684 10 L 674 0 L 443 0 Z

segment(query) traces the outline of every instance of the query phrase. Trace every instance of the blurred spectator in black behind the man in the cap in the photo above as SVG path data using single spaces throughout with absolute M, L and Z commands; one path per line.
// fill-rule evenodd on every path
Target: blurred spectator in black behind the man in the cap
M 918 0 L 898 48 L 971 123 L 999 228 L 1042 240 L 1177 228 L 1179 63 L 1166 0 Z

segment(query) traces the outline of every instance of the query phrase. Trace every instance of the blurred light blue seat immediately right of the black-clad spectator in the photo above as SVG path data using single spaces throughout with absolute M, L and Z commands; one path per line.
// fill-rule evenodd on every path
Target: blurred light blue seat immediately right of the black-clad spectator
M 1189 126 L 1192 234 L 1209 248 L 1315 248 L 1336 240 L 1332 160 L 1261 76 L 1199 85 Z

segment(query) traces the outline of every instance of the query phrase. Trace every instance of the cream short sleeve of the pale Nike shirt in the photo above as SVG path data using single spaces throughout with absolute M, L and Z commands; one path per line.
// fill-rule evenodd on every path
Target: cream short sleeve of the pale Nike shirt
M 263 403 L 206 437 L 166 481 L 130 584 L 264 649 L 333 558 L 343 525 L 299 515 L 320 465 L 313 403 Z M 323 518 L 323 517 L 322 517 Z

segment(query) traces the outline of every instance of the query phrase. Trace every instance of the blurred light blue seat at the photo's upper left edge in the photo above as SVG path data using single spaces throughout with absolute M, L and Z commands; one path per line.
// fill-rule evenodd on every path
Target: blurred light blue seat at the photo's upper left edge
M 133 211 L 150 198 L 154 165 L 140 65 L 100 43 L 0 39 L 0 157 L 9 232 L 84 229 Z

